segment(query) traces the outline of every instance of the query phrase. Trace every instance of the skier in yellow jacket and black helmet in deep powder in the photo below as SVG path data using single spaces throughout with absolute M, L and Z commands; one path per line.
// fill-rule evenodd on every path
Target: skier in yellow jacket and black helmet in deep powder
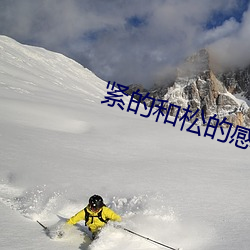
M 85 220 L 85 226 L 92 232 L 94 239 L 109 220 L 120 222 L 122 219 L 120 215 L 105 206 L 101 196 L 95 194 L 89 198 L 89 204 L 72 216 L 67 224 L 74 225 L 80 220 Z

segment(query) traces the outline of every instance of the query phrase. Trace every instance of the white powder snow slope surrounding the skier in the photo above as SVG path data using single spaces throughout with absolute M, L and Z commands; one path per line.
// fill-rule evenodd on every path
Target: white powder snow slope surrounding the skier
M 36 223 L 53 231 L 99 194 L 123 227 L 168 246 L 249 250 L 249 149 L 101 104 L 106 86 L 0 36 L 0 249 L 164 249 L 112 223 L 92 243 L 84 222 L 61 239 Z

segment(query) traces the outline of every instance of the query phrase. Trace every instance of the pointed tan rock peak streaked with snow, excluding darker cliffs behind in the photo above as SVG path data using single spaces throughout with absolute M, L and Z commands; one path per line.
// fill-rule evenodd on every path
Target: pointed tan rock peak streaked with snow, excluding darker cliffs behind
M 177 78 L 164 99 L 183 108 L 190 105 L 193 112 L 199 109 L 198 118 L 202 110 L 206 120 L 216 114 L 220 119 L 227 117 L 233 124 L 246 125 L 238 114 L 243 112 L 241 103 L 217 79 L 209 63 L 207 50 L 189 57 L 178 69 Z M 246 104 L 245 108 L 248 109 Z

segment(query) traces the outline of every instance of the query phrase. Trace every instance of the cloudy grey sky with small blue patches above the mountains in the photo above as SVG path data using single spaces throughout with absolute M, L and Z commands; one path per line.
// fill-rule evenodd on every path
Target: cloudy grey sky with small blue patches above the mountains
M 208 46 L 223 63 L 249 63 L 249 1 L 0 0 L 0 34 L 149 86 Z

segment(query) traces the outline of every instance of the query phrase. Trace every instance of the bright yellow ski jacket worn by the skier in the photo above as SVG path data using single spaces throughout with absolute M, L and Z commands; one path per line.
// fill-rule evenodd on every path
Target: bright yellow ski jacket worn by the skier
M 97 232 L 100 228 L 102 228 L 106 223 L 104 221 L 112 220 L 112 221 L 121 221 L 120 215 L 116 214 L 113 210 L 110 208 L 103 206 L 99 211 L 93 212 L 88 207 L 86 207 L 87 212 L 89 213 L 88 221 L 85 221 L 86 226 L 88 226 L 89 230 L 92 233 Z M 98 215 L 100 215 L 101 212 L 101 218 L 104 220 L 100 220 L 98 218 Z M 67 224 L 74 225 L 80 220 L 85 220 L 85 210 L 82 209 L 77 214 L 72 216 L 68 221 Z

